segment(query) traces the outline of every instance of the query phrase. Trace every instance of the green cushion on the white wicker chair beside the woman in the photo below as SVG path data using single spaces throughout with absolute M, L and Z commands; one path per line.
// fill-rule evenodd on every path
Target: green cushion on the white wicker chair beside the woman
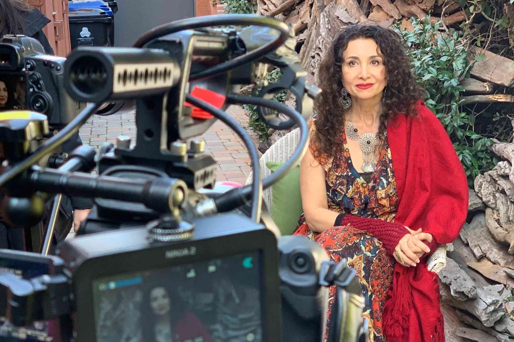
M 283 162 L 267 162 L 266 166 L 275 172 L 284 165 Z M 284 178 L 273 184 L 271 199 L 271 217 L 282 235 L 291 235 L 302 214 L 302 197 L 300 195 L 300 167 L 289 171 Z

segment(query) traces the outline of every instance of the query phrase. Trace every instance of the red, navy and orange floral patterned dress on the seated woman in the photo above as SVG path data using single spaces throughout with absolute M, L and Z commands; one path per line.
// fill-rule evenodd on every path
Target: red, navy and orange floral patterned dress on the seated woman
M 311 135 L 315 128 L 313 124 L 311 119 Z M 325 169 L 328 209 L 391 222 L 395 217 L 398 194 L 387 137 L 381 147 L 375 170 L 368 173 L 359 173 L 355 169 L 344 132 L 341 139 L 342 151 L 337 157 L 322 157 L 318 160 Z M 311 143 L 309 148 L 313 151 L 316 147 Z M 392 285 L 395 261 L 382 247 L 382 243 L 350 226 L 333 227 L 322 233 L 312 232 L 305 223 L 303 214 L 294 234 L 315 240 L 325 248 L 332 260 L 339 262 L 346 259 L 348 266 L 355 268 L 365 299 L 363 316 L 369 319 L 371 340 L 385 341 L 382 312 L 387 291 Z M 327 327 L 334 295 L 333 286 L 330 289 Z

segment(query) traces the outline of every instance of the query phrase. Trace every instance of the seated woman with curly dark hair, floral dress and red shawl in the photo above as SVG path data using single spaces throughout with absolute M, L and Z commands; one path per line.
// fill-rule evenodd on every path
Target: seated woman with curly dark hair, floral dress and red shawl
M 466 175 L 450 139 L 391 30 L 346 27 L 318 76 L 295 234 L 356 269 L 372 341 L 444 341 L 426 260 L 467 214 Z

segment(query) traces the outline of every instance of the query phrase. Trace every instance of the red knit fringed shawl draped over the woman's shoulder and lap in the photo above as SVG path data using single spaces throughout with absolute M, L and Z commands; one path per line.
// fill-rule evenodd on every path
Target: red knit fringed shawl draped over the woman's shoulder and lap
M 399 206 L 395 222 L 429 232 L 438 244 L 452 242 L 468 210 L 463 166 L 448 134 L 422 101 L 417 117 L 398 115 L 388 124 L 388 142 Z M 444 341 L 438 277 L 424 258 L 416 267 L 396 264 L 384 306 L 388 342 Z

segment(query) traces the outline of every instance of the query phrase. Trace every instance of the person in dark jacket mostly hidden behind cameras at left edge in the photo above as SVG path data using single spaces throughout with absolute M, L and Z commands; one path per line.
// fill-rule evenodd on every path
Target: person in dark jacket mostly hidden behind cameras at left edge
M 0 37 L 6 34 L 23 34 L 33 37 L 38 39 L 45 53 L 53 55 L 53 49 L 43 32 L 43 27 L 48 23 L 50 23 L 50 19 L 45 17 L 38 9 L 30 7 L 24 0 L 0 0 Z M 71 152 L 80 145 L 82 145 L 82 140 L 76 133 L 62 145 L 62 151 Z M 72 225 L 75 231 L 79 229 L 91 207 L 93 207 L 93 202 L 89 198 L 63 196 L 54 234 L 57 242 L 68 235 Z M 47 204 L 45 217 L 39 226 L 46 227 L 50 208 L 51 202 Z M 24 246 L 22 231 L 8 229 L 6 223 L 0 220 L 0 248 L 23 250 L 26 247 Z

